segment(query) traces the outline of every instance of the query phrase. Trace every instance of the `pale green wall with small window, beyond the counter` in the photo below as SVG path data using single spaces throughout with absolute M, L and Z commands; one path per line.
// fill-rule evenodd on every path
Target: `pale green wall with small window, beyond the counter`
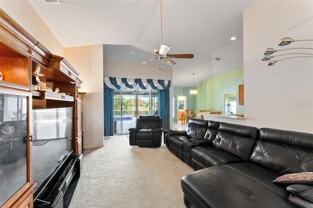
M 205 82 L 198 85 L 198 95 L 196 95 L 196 112 L 200 110 L 222 111 L 224 102 L 224 93 L 237 92 L 238 101 L 238 85 L 244 83 L 244 69 L 237 69 L 224 74 L 220 74 L 209 78 Z M 244 105 L 237 105 L 237 114 L 244 113 Z

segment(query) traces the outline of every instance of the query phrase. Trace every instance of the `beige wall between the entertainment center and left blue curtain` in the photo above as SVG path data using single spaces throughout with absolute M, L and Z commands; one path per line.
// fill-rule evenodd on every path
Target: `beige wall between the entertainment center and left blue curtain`
M 84 147 L 103 146 L 103 50 L 102 45 L 65 48 L 65 59 L 83 81 Z

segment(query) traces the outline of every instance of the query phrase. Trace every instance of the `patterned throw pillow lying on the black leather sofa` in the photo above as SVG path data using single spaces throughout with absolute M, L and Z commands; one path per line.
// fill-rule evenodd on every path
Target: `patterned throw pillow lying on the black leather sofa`
M 313 184 L 313 172 L 289 173 L 279 176 L 273 182 L 280 184 Z

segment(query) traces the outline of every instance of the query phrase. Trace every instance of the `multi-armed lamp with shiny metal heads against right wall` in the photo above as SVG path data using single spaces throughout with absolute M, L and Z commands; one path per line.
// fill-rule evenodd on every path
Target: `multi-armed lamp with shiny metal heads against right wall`
M 290 44 L 291 42 L 295 42 L 295 41 L 313 41 L 313 40 L 293 40 L 292 38 L 286 37 L 286 38 L 282 38 L 279 42 L 278 42 L 278 46 L 285 46 Z M 301 55 L 305 55 L 305 56 L 294 56 L 294 57 L 288 57 L 285 59 L 281 59 L 281 60 L 276 60 L 276 61 L 269 61 L 267 62 L 268 66 L 272 66 L 274 65 L 276 62 L 279 61 L 283 61 L 286 59 L 293 59 L 293 58 L 313 58 L 313 54 L 312 53 L 287 53 L 287 54 L 281 54 L 281 55 L 276 55 L 276 56 L 270 56 L 270 54 L 273 54 L 274 52 L 277 51 L 283 51 L 283 50 L 291 50 L 291 49 L 309 49 L 309 50 L 313 50 L 313 48 L 285 48 L 285 49 L 281 49 L 281 50 L 275 50 L 274 48 L 267 48 L 264 50 L 263 54 L 264 56 L 262 57 L 262 61 L 268 61 L 271 58 L 274 58 L 276 56 L 285 56 L 285 55 L 291 55 L 291 54 L 301 54 Z

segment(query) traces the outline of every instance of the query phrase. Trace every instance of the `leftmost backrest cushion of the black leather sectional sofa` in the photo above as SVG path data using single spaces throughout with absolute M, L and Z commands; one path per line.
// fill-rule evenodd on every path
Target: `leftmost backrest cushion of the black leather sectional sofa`
M 189 119 L 186 127 L 186 135 L 189 138 L 204 138 L 208 128 L 208 121 L 202 119 Z

